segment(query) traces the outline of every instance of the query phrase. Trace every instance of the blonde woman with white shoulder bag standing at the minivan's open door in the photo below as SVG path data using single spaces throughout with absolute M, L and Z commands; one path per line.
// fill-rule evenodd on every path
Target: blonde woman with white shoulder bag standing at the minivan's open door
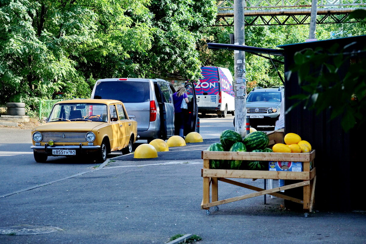
M 174 104 L 174 127 L 175 135 L 183 137 L 184 123 L 186 121 L 185 113 L 180 106 L 182 105 L 183 99 L 186 103 L 189 102 L 187 90 L 183 86 L 178 87 L 176 93 L 173 94 L 173 104 Z

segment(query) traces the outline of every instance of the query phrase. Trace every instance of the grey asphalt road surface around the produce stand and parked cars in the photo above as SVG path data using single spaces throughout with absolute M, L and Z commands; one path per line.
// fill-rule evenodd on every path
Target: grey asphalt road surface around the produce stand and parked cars
M 0 198 L 0 232 L 40 233 L 0 234 L 0 244 L 166 243 L 188 233 L 202 237 L 201 244 L 365 243 L 362 212 L 315 211 L 305 218 L 281 207 L 281 199 L 267 197 L 264 204 L 260 196 L 220 205 L 206 215 L 200 209 L 201 151 L 218 140 L 220 131 L 233 128 L 230 118 L 201 119 L 204 142 L 160 152 L 161 160 L 124 155 L 95 169 L 95 164 L 58 158 L 38 164 L 27 153 L 29 131 L 0 128 L 0 195 L 11 194 Z M 241 181 L 257 187 L 264 183 Z M 34 188 L 25 190 L 30 185 Z M 220 199 L 250 192 L 219 184 Z M 58 229 L 44 233 L 45 226 Z

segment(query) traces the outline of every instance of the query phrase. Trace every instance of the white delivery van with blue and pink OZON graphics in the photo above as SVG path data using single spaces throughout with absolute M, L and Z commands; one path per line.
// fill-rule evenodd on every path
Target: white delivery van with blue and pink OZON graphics
M 231 72 L 227 68 L 204 66 L 201 67 L 201 74 L 204 78 L 194 83 L 198 112 L 202 115 L 215 113 L 219 117 L 226 117 L 228 112 L 234 115 Z

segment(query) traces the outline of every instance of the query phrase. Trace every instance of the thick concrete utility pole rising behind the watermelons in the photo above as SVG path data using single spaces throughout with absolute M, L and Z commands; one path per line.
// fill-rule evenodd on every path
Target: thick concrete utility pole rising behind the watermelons
M 244 3 L 245 0 L 234 0 L 234 44 L 245 45 L 244 37 Z M 235 131 L 246 136 L 246 80 L 245 52 L 234 51 L 234 93 L 235 93 Z

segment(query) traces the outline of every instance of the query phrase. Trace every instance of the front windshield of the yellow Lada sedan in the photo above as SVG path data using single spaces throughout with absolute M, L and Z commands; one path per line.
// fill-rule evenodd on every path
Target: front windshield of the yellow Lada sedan
M 48 121 L 108 122 L 107 105 L 86 103 L 56 104 Z

